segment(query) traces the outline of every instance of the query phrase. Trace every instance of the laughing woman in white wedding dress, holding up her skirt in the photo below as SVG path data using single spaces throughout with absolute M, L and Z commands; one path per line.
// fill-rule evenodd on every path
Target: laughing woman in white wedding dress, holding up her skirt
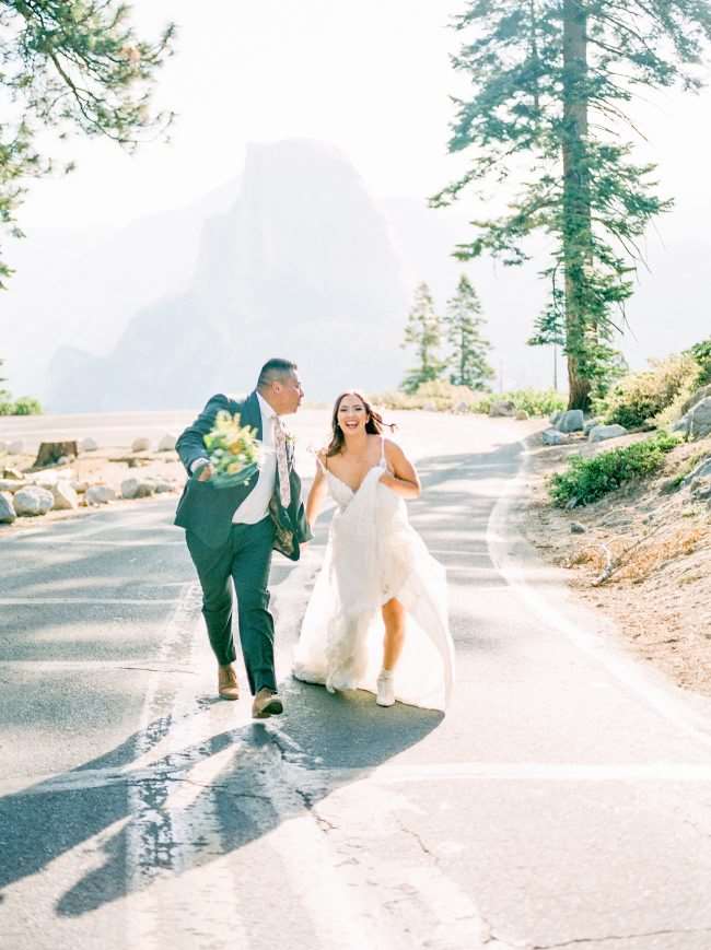
M 324 564 L 294 656 L 296 679 L 330 692 L 364 689 L 444 709 L 454 679 L 444 567 L 410 527 L 405 501 L 420 480 L 383 420 L 356 391 L 341 394 L 328 447 L 306 502 L 313 526 L 326 495 L 336 503 Z

